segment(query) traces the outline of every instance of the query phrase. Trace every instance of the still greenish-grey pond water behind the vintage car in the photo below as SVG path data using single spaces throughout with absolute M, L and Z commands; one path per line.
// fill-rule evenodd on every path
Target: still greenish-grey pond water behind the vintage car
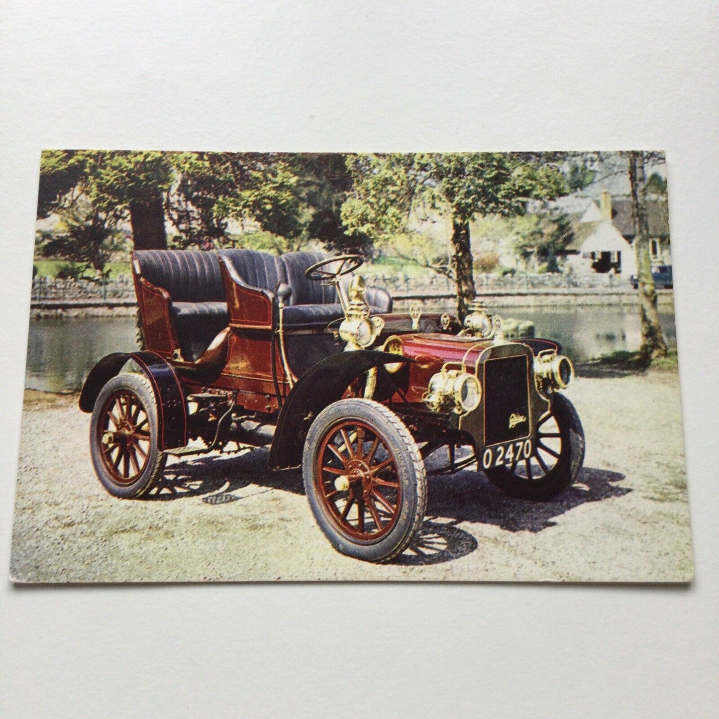
M 503 308 L 507 319 L 531 320 L 536 336 L 556 339 L 574 362 L 618 349 L 638 349 L 640 324 L 635 307 Z M 676 344 L 674 313 L 660 312 L 667 340 Z M 62 392 L 79 390 L 91 367 L 110 352 L 137 347 L 134 317 L 73 317 L 30 321 L 25 386 Z

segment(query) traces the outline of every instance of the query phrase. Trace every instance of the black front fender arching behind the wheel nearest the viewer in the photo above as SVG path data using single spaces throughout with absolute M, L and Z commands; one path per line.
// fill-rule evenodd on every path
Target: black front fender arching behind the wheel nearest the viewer
M 297 381 L 280 410 L 270 447 L 270 470 L 288 470 L 302 464 L 305 438 L 314 418 L 326 406 L 342 399 L 357 377 L 372 367 L 402 361 L 413 362 L 398 354 L 357 349 L 331 354 L 313 365 Z

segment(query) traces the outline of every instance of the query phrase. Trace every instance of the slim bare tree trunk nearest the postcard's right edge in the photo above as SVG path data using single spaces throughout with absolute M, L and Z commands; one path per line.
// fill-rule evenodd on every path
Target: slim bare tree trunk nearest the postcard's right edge
M 656 357 L 667 357 L 667 342 L 661 333 L 659 312 L 656 310 L 656 288 L 651 276 L 649 255 L 649 219 L 646 211 L 646 173 L 644 152 L 630 152 L 629 186 L 631 188 L 634 219 L 634 257 L 639 285 L 639 313 L 641 316 L 641 347 L 639 354 L 647 365 Z

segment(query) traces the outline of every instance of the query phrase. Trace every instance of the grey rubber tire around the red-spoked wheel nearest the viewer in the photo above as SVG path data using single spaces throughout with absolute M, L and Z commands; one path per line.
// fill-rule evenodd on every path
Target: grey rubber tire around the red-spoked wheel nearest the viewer
M 339 421 L 357 419 L 372 427 L 395 453 L 403 506 L 394 528 L 375 544 L 359 544 L 340 533 L 329 518 L 322 499 L 317 495 L 315 475 L 317 453 L 327 432 Z M 395 413 L 374 400 L 350 398 L 339 400 L 319 413 L 310 427 L 302 457 L 305 492 L 312 513 L 334 549 L 347 557 L 365 562 L 388 562 L 402 554 L 412 543 L 427 508 L 427 479 L 419 448 L 409 430 Z

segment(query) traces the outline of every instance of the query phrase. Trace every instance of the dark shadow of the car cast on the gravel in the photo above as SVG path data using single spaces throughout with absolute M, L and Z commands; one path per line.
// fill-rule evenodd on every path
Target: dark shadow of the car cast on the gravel
M 477 549 L 471 533 L 460 523 L 492 524 L 506 531 L 539 532 L 555 526 L 558 516 L 588 502 L 621 497 L 631 492 L 618 486 L 624 479 L 619 472 L 585 467 L 572 487 L 549 502 L 530 502 L 508 497 L 482 473 L 463 470 L 454 475 L 429 478 L 426 519 L 412 546 L 391 564 L 426 565 L 450 562 Z M 264 487 L 304 494 L 298 471 L 267 471 L 267 449 L 246 454 L 196 457 L 168 464 L 157 489 L 147 501 L 201 498 L 209 505 L 240 501 L 258 494 L 244 495 L 244 487 Z

